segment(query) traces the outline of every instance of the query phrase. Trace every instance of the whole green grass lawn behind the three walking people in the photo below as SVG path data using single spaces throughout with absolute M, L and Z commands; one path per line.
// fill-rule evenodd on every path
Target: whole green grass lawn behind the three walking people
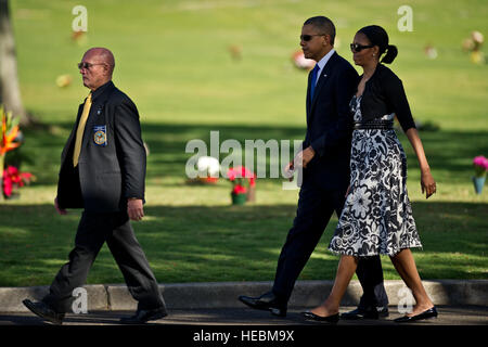
M 297 191 L 281 179 L 257 182 L 257 202 L 230 206 L 230 184 L 187 185 L 184 153 L 192 139 L 294 140 L 305 133 L 306 73 L 293 67 L 303 22 L 316 14 L 337 26 L 337 51 L 351 61 L 348 43 L 360 27 L 384 26 L 399 56 L 391 68 L 403 80 L 438 193 L 420 192 L 416 159 L 409 157 L 409 193 L 423 250 L 415 259 L 424 279 L 487 279 L 488 197 L 476 195 L 472 159 L 488 155 L 488 65 L 475 65 L 461 42 L 474 29 L 488 36 L 485 1 L 410 1 L 413 31 L 397 30 L 402 1 L 85 1 L 88 42 L 70 40 L 77 1 L 11 1 L 24 103 L 46 127 L 24 129 L 22 169 L 38 180 L 16 201 L 0 202 L 0 285 L 49 284 L 67 259 L 79 211 L 56 216 L 62 145 L 78 104 L 88 93 L 76 63 L 92 46 L 113 50 L 115 83 L 141 113 L 147 166 L 147 217 L 134 223 L 159 282 L 272 280 L 296 209 Z M 367 20 L 368 18 L 368 20 Z M 423 53 L 431 43 L 438 57 Z M 234 61 L 230 46 L 242 48 Z M 484 49 L 487 54 L 486 48 Z M 72 74 L 60 89 L 55 78 Z M 226 155 L 222 155 L 223 158 Z M 334 219 L 300 279 L 333 279 L 337 257 L 326 250 Z M 387 258 L 385 277 L 398 279 Z M 123 278 L 104 247 L 89 283 Z

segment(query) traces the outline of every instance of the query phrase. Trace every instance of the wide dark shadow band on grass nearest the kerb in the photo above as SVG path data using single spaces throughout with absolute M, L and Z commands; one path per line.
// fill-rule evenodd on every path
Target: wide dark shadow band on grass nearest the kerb
M 136 234 L 162 283 L 270 281 L 296 206 L 146 206 Z M 485 216 L 488 204 L 414 203 L 423 252 L 415 252 L 423 279 L 488 278 Z M 28 216 L 28 218 L 26 218 Z M 0 285 L 49 284 L 73 247 L 79 214 L 54 215 L 50 205 L 3 205 L 0 209 Z M 338 258 L 326 246 L 336 219 L 300 280 L 332 280 Z M 386 265 L 388 264 L 388 265 Z M 397 278 L 384 261 L 385 277 Z M 89 283 L 123 278 L 106 246 Z

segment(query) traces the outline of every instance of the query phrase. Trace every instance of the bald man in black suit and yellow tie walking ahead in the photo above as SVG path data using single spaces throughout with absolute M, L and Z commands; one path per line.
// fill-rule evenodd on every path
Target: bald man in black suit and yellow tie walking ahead
M 73 291 L 85 284 L 100 248 L 106 242 L 132 297 L 138 301 L 126 323 L 165 317 L 166 307 L 131 220 L 144 217 L 145 150 L 133 102 L 112 82 L 115 60 L 104 48 L 88 50 L 78 64 L 91 92 L 79 106 L 75 127 L 64 146 L 54 206 L 84 208 L 69 253 L 39 303 L 24 304 L 39 317 L 61 324 L 70 309 Z

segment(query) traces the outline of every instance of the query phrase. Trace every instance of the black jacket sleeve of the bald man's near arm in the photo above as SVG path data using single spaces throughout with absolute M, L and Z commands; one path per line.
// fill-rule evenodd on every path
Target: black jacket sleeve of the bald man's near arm
M 141 137 L 139 113 L 131 101 L 126 100 L 116 107 L 114 132 L 123 176 L 123 194 L 127 198 L 144 200 L 145 149 Z

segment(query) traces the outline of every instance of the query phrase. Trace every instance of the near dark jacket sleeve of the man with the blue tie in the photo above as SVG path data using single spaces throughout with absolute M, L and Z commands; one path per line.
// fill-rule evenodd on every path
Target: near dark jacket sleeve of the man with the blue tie
M 323 136 L 314 140 L 311 146 L 319 156 L 323 156 L 328 149 L 341 145 L 350 138 L 352 131 L 352 116 L 349 110 L 350 98 L 355 91 L 358 75 L 351 68 L 345 69 L 335 79 L 335 104 L 337 121 L 329 127 Z

